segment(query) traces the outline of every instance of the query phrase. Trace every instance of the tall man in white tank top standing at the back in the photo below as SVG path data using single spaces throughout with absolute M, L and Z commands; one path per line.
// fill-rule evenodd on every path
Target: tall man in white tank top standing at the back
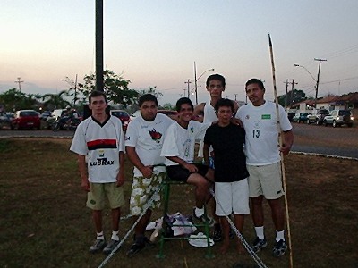
M 206 103 L 201 103 L 199 105 L 196 105 L 194 109 L 194 117 L 197 118 L 198 121 L 207 123 L 207 122 L 213 122 L 217 121 L 217 114 L 215 113 L 214 106 L 217 103 L 217 101 L 221 98 L 223 98 L 223 92 L 225 90 L 226 81 L 225 78 L 220 74 L 212 74 L 208 77 L 206 88 L 210 94 L 210 100 Z M 236 102 L 234 102 L 234 113 L 236 113 L 238 109 L 238 105 Z M 200 147 L 198 156 L 203 157 L 202 150 L 203 150 L 203 141 L 200 140 Z M 209 159 L 209 166 L 210 168 L 214 168 L 214 160 L 213 160 L 213 150 L 212 147 L 209 149 L 210 151 L 210 159 Z M 209 170 L 210 171 L 210 170 Z M 213 172 L 213 170 L 211 170 Z M 212 174 L 212 177 L 214 177 L 214 174 Z M 211 213 L 213 215 L 213 218 L 215 220 L 214 224 L 214 232 L 213 232 L 213 239 L 218 242 L 222 239 L 222 232 L 221 227 L 219 223 L 219 218 L 217 215 L 215 215 L 215 202 L 212 202 L 211 200 Z

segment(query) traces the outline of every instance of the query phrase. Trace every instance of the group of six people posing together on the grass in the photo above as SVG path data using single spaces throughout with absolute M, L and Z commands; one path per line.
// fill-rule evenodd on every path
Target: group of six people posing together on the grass
M 149 199 L 152 201 L 135 226 L 134 243 L 127 255 L 136 255 L 151 245 L 144 233 L 152 210 L 160 206 L 158 188 L 166 174 L 171 180 L 195 186 L 193 216 L 202 221 L 209 221 L 204 206 L 211 197 L 209 187 L 214 185 L 214 235 L 218 236 L 217 241 L 223 239 L 222 253 L 229 247 L 230 227 L 226 216 L 234 214 L 235 227 L 243 231 L 244 215 L 250 214 L 249 199 L 256 231 L 252 249 L 259 252 L 267 246 L 262 208 L 265 197 L 277 231 L 273 255 L 285 254 L 280 152 L 288 154 L 293 144 L 291 124 L 281 106 L 277 119 L 276 104 L 264 99 L 265 88 L 260 80 L 247 81 L 245 90 L 251 104 L 238 110 L 234 101 L 222 97 L 225 87 L 223 76 L 209 76 L 206 88 L 210 101 L 194 109 L 189 98 L 180 98 L 176 103 L 177 121 L 157 113 L 155 96 L 141 96 L 141 116 L 130 122 L 125 138 L 121 122 L 106 113 L 106 95 L 98 91 L 90 94 L 92 115 L 77 128 L 70 148 L 78 155 L 81 186 L 88 191 L 87 206 L 92 210 L 97 231 L 90 252 L 102 250 L 108 254 L 120 242 L 118 225 L 120 207 L 124 205 L 125 152 L 134 165 L 129 202 L 133 222 L 144 213 Z M 203 122 L 192 120 L 197 115 L 203 116 Z M 283 131 L 282 147 L 278 147 L 277 122 Z M 203 141 L 199 152 L 204 157 L 203 163 L 194 163 L 198 139 Z M 106 197 L 112 209 L 113 229 L 108 243 L 101 215 Z M 243 252 L 239 239 L 237 250 Z

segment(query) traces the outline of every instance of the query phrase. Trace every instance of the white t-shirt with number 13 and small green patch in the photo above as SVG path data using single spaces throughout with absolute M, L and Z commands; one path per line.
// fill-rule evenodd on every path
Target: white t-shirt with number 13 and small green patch
M 281 130 L 291 130 L 285 109 L 278 105 L 278 111 Z M 243 121 L 246 132 L 246 163 L 266 165 L 279 162 L 276 104 L 266 101 L 256 107 L 250 103 L 240 107 L 235 117 Z

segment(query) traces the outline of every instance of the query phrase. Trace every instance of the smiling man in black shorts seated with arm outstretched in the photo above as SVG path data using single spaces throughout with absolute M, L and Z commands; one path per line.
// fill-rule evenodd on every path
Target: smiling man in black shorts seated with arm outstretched
M 193 163 L 195 139 L 204 138 L 211 123 L 192 120 L 193 105 L 187 97 L 176 102 L 178 120 L 166 131 L 160 155 L 166 156 L 166 172 L 171 180 L 180 180 L 192 184 L 195 189 L 194 217 L 209 221 L 204 204 L 209 200 L 209 166 Z M 209 179 L 209 178 L 208 178 Z M 213 178 L 211 178 L 213 179 Z

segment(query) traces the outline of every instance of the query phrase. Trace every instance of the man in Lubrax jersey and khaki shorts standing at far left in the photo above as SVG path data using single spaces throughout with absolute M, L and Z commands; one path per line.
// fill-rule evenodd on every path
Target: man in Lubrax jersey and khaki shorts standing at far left
M 88 192 L 87 206 L 92 210 L 97 231 L 90 252 L 103 249 L 105 254 L 109 254 L 120 241 L 118 225 L 120 207 L 124 205 L 124 133 L 121 121 L 106 114 L 105 93 L 92 91 L 89 103 L 92 115 L 78 126 L 70 150 L 78 156 L 81 187 Z M 108 244 L 102 229 L 105 197 L 112 209 L 113 231 Z

